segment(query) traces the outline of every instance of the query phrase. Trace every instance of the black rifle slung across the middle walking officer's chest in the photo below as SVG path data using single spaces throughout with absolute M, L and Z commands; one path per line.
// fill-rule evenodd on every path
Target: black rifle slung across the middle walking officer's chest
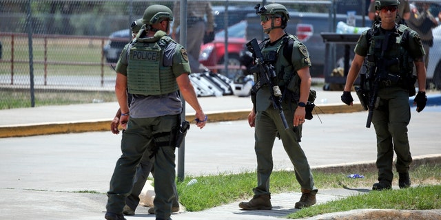
M 271 93 L 271 101 L 273 102 L 273 107 L 274 109 L 278 109 L 280 119 L 283 122 L 285 130 L 289 129 L 287 119 L 285 118 L 285 114 L 283 114 L 282 91 L 280 91 L 280 88 L 277 84 L 277 76 L 276 71 L 274 70 L 274 66 L 263 61 L 263 55 L 260 51 L 260 47 L 256 39 L 252 39 L 247 43 L 247 49 L 249 50 L 249 52 L 252 52 L 253 56 L 256 58 L 256 65 L 250 68 L 250 70 L 251 72 L 257 73 L 259 76 L 258 82 L 256 82 L 256 86 L 252 89 L 252 96 L 256 96 L 256 92 L 260 88 L 260 86 L 267 84 Z

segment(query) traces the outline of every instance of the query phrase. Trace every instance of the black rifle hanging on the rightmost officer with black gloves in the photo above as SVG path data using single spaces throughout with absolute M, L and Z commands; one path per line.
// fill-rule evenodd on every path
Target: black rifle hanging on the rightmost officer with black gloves
M 369 100 L 369 113 L 367 115 L 367 122 L 366 127 L 371 127 L 372 122 L 372 116 L 373 116 L 373 109 L 376 109 L 378 107 L 378 104 L 380 104 L 380 98 L 378 97 L 378 89 L 380 89 L 380 83 L 385 81 L 398 81 L 399 76 L 388 74 L 387 67 L 390 65 L 395 65 L 396 63 L 399 63 L 398 58 L 388 60 L 384 58 L 384 52 L 388 50 L 389 43 L 391 41 L 391 35 L 393 35 L 392 32 L 386 32 L 384 39 L 382 41 L 381 45 L 381 55 L 379 58 L 376 58 L 375 63 L 376 67 L 369 69 L 369 78 L 375 77 L 373 80 L 371 80 L 373 83 L 371 85 L 371 99 Z M 369 59 L 368 55 L 368 59 Z

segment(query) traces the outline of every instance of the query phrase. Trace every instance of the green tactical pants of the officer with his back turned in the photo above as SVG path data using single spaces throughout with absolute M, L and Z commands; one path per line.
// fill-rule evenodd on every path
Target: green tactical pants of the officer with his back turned
M 107 212 L 122 213 L 125 197 L 132 192 L 133 180 L 145 151 L 154 153 L 155 142 L 169 142 L 171 133 L 178 126 L 178 115 L 157 118 L 130 118 L 123 132 L 121 151 L 123 155 L 116 162 L 107 192 Z M 159 137 L 158 137 L 159 136 Z M 154 138 L 155 137 L 155 138 Z M 154 153 L 155 214 L 157 219 L 170 219 L 174 200 L 175 173 L 174 146 L 158 147 Z

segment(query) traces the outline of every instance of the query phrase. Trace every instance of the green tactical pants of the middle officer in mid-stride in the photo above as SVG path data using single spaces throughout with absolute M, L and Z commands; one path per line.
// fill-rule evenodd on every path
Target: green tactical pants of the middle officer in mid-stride
M 254 151 L 256 151 L 257 157 L 257 187 L 253 189 L 255 195 L 270 194 L 269 177 L 274 165 L 272 149 L 277 132 L 283 142 L 283 148 L 294 165 L 296 179 L 301 188 L 314 190 L 314 177 L 312 177 L 311 168 L 309 168 L 307 157 L 298 143 L 302 126 L 296 127 L 298 131 L 294 132 L 294 112 L 285 110 L 284 113 L 289 125 L 287 130 L 283 127 L 279 111 L 272 106 L 266 111 L 257 111 L 254 133 L 256 140 Z

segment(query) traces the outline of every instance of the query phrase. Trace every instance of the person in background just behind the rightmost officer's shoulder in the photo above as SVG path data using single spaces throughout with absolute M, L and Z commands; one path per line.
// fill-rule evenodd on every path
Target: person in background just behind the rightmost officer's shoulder
M 430 47 L 433 46 L 432 29 L 438 26 L 438 21 L 436 21 L 429 10 L 430 5 L 430 3 L 411 4 L 411 17 L 407 21 L 409 28 L 415 30 L 420 35 L 424 52 L 426 52 L 426 55 L 424 55 L 426 69 L 429 64 Z

